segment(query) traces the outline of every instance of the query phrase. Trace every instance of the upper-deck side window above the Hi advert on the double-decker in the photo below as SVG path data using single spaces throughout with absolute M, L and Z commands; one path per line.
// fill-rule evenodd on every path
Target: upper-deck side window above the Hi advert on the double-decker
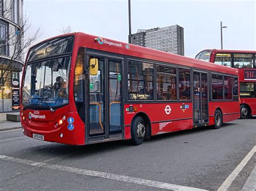
M 234 68 L 253 68 L 252 54 L 234 53 Z

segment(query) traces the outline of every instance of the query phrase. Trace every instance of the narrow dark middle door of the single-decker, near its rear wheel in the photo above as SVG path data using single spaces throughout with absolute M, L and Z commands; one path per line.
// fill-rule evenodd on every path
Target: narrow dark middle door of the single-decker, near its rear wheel
M 193 90 L 194 125 L 205 125 L 208 123 L 207 73 L 193 71 Z

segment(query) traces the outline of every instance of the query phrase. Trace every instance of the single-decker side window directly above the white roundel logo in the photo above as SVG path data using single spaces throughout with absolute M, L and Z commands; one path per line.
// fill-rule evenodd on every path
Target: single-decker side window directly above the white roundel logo
M 176 68 L 157 66 L 157 100 L 177 100 Z

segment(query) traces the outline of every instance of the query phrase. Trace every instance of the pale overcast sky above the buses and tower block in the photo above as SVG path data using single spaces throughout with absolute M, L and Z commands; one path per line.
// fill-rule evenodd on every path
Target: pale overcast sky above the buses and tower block
M 128 0 L 24 0 L 31 27 L 40 28 L 36 43 L 61 34 L 64 27 L 103 38 L 128 41 Z M 206 48 L 220 49 L 220 22 L 224 49 L 256 49 L 256 1 L 131 0 L 132 33 L 180 25 L 184 27 L 185 56 L 194 58 Z

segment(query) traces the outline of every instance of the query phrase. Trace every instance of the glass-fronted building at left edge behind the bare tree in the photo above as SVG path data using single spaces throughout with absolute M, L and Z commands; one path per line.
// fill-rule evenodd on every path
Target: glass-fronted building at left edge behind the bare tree
M 0 0 L 0 112 L 19 109 L 23 0 Z

